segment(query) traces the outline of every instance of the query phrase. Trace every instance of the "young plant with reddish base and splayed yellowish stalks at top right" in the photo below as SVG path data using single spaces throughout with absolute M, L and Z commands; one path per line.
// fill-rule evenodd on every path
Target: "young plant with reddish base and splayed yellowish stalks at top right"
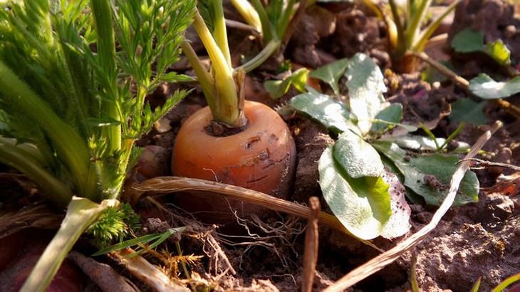
M 429 24 L 422 28 L 427 22 L 428 9 L 432 0 L 407 0 L 403 9 L 400 9 L 395 0 L 388 0 L 391 18 L 387 16 L 388 12 L 380 10 L 373 0 L 365 0 L 370 9 L 373 9 L 378 16 L 385 19 L 388 28 L 390 56 L 395 71 L 400 73 L 416 71 L 417 61 L 415 57 L 407 55 L 407 52 L 424 51 L 430 37 L 442 24 L 442 20 L 455 9 L 459 1 L 453 1 L 437 19 L 428 21 Z

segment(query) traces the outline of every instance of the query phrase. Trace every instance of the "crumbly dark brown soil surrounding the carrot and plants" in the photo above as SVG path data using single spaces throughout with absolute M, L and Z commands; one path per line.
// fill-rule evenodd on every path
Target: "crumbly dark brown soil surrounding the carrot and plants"
M 230 8 L 227 7 L 227 12 L 234 15 L 232 19 L 240 20 L 239 16 L 236 16 L 236 11 L 229 10 Z M 513 67 L 519 64 L 520 18 L 515 14 L 515 6 L 501 0 L 462 0 L 455 11 L 447 43 L 455 33 L 466 27 L 483 31 L 487 42 L 499 38 L 503 40 L 511 50 Z M 258 50 L 257 43 L 244 41 L 246 38 L 244 31 L 232 29 L 230 33 L 234 36 L 230 39 L 234 54 Z M 187 37 L 192 39 L 198 53 L 204 53 L 204 48 L 197 41 L 193 31 L 189 31 Z M 462 56 L 450 51 L 447 43 L 440 51 L 461 66 L 461 72 L 465 77 L 474 76 L 482 71 L 501 73 L 501 68 L 496 68 L 485 58 Z M 293 34 L 284 55 L 271 58 L 260 72 L 256 71 L 248 76 L 246 95 L 250 96 L 251 100 L 258 100 L 271 107 L 279 108 L 296 93 L 291 91 L 280 100 L 272 100 L 262 83 L 276 75 L 274 71 L 280 67 L 281 61 L 285 59 L 302 66 L 316 68 L 338 58 L 353 56 L 358 52 L 371 56 L 382 71 L 391 68 L 388 39 L 383 21 L 378 20 L 367 9 L 353 4 L 314 6 L 303 16 L 301 26 L 298 26 Z M 238 62 L 238 59 L 234 61 Z M 191 73 L 189 68 L 179 64 L 175 70 Z M 386 98 L 390 103 L 402 103 L 405 109 L 405 122 L 424 122 L 438 137 L 447 137 L 457 127 L 457 124 L 452 123 L 447 115 L 451 111 L 451 103 L 467 97 L 462 88 L 447 80 L 435 84 L 427 83 L 421 80 L 420 73 L 398 75 L 385 71 L 385 81 L 388 85 Z M 152 107 L 160 105 L 177 88 L 174 85 L 161 86 L 148 97 L 150 105 Z M 510 101 L 517 103 L 515 98 L 511 98 Z M 165 119 L 157 123 L 150 133 L 137 142 L 140 147 L 146 147 L 146 153 L 150 157 L 145 160 L 147 165 L 140 162 L 140 170 L 135 170 L 140 177 L 135 179 L 142 180 L 171 174 L 171 152 L 180 125 L 189 115 L 203 106 L 205 106 L 204 98 L 199 89 L 196 89 L 168 113 Z M 484 147 L 484 155 L 479 158 L 520 165 L 519 117 L 491 103 L 487 105 L 484 113 L 489 124 L 494 120 L 501 120 L 504 122 L 504 127 L 487 143 Z M 296 174 L 291 186 L 293 196 L 290 200 L 307 204 L 309 197 L 321 198 L 317 161 L 323 150 L 333 143 L 333 138 L 325 128 L 297 115 L 286 115 L 284 119 L 291 129 L 297 150 Z M 472 145 L 484 130 L 486 126 L 465 125 L 457 140 Z M 0 170 L 13 174 L 12 170 L 6 167 Z M 420 291 L 469 291 L 479 277 L 482 277 L 480 291 L 490 291 L 504 278 L 519 273 L 520 179 L 514 170 L 504 167 L 488 167 L 476 172 L 482 187 L 479 202 L 450 209 L 436 229 L 415 249 L 348 291 L 410 291 L 410 273 L 417 275 Z M 5 189 L 5 192 L 0 194 L 2 201 L 6 197 L 14 197 L 12 194 L 17 194 L 16 198 L 22 197 L 19 199 L 21 200 L 19 204 L 23 205 L 28 202 L 21 194 L 31 194 L 29 196 L 31 198 L 38 196 L 35 186 L 23 177 L 0 176 L 0 188 Z M 322 209 L 327 212 L 326 202 L 323 199 L 321 204 Z M 6 206 L 0 203 L 0 207 Z M 380 249 L 390 249 L 400 240 L 425 226 L 435 212 L 434 207 L 420 204 L 410 203 L 410 207 L 412 229 L 408 234 L 393 241 L 376 239 L 373 244 Z M 237 235 L 227 233 L 222 226 L 197 221 L 192 214 L 175 207 L 175 201 L 169 196 L 153 197 L 153 201 L 142 199 L 135 208 L 142 217 L 142 234 L 160 232 L 170 227 L 187 226 L 187 231 L 180 239 L 170 239 L 165 246 L 169 250 L 175 250 L 175 244 L 178 242 L 183 254 L 202 256 L 202 259 L 189 265 L 193 272 L 190 283 L 194 286 L 211 287 L 214 291 L 298 291 L 300 289 L 306 226 L 303 220 L 283 214 L 276 214 L 264 221 L 237 217 L 237 224 L 244 229 Z M 31 217 L 24 223 L 48 237 L 50 233 L 41 231 L 41 221 L 37 219 L 41 220 L 41 217 Z M 35 225 L 34 222 L 40 222 L 40 225 Z M 56 224 L 56 220 L 53 222 Z M 32 230 L 24 229 L 14 234 L 0 234 L 2 235 L 0 237 L 2 241 L 0 243 L 2 246 L 0 291 L 14 291 L 13 287 L 7 287 L 10 286 L 7 283 L 16 282 L 14 279 L 16 273 L 21 273 L 19 271 L 25 271 L 24 269 L 31 266 L 36 259 L 34 254 L 41 252 L 43 245 L 38 241 L 33 246 L 23 245 L 26 257 L 15 259 L 13 254 L 9 254 L 9 251 L 21 249 L 12 242 L 21 242 L 24 236 L 36 237 L 34 234 L 28 235 L 28 231 Z M 320 226 L 319 231 L 320 243 L 314 291 L 321 291 L 348 271 L 379 254 L 379 251 L 372 247 L 338 231 L 323 226 Z M 4 244 L 9 242 L 10 245 Z M 414 258 L 417 264 L 415 271 L 411 271 L 410 263 Z M 8 262 L 9 264 L 5 264 Z M 108 264 L 113 263 L 109 261 Z M 71 264 L 71 261 L 67 261 L 63 269 L 66 271 L 61 275 L 83 283 L 83 286 L 80 285 L 83 291 L 90 289 L 88 287 L 95 287 L 93 283 L 85 280 L 85 275 Z M 120 268 L 117 271 L 125 274 Z M 128 274 L 125 276 L 128 276 L 133 283 L 137 283 L 138 287 L 143 287 L 143 284 L 135 278 Z M 183 273 L 175 276 L 186 278 Z M 76 287 L 70 289 L 68 291 L 75 291 L 73 289 Z M 96 291 L 95 288 L 93 291 Z

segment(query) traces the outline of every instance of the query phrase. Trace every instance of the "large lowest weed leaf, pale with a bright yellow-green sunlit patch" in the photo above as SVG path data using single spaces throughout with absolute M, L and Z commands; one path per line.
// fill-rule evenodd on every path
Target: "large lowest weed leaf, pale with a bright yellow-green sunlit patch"
M 381 177 L 348 177 L 332 147 L 321 155 L 318 170 L 323 198 L 345 228 L 360 239 L 379 236 L 392 214 L 388 184 Z

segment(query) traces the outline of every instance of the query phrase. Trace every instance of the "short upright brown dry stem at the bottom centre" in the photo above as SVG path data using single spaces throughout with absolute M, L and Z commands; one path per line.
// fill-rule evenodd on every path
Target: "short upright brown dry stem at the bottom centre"
M 316 274 L 316 262 L 318 261 L 318 215 L 320 214 L 320 199 L 311 197 L 308 199 L 312 209 L 311 219 L 308 219 L 307 233 L 305 234 L 305 253 L 303 254 L 303 281 L 302 292 L 311 292 L 314 276 Z

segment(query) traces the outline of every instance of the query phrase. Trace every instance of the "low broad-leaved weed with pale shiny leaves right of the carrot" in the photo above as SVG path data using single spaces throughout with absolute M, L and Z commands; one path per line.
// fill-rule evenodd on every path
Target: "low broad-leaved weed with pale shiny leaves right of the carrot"
M 345 77 L 348 88 L 346 104 L 313 90 L 293 97 L 286 109 L 321 123 L 337 137 L 319 160 L 323 197 L 345 228 L 360 239 L 404 234 L 410 217 L 404 194 L 412 202 L 431 205 L 441 204 L 447 194 L 459 160 L 446 150 L 453 137 L 408 134 L 418 127 L 401 123 L 402 105 L 385 103 L 383 74 L 362 53 L 310 75 L 338 93 L 338 82 Z M 394 127 L 400 127 L 400 135 L 389 132 Z M 459 143 L 459 147 L 469 146 Z M 476 174 L 467 172 L 455 204 L 477 201 L 478 190 Z

